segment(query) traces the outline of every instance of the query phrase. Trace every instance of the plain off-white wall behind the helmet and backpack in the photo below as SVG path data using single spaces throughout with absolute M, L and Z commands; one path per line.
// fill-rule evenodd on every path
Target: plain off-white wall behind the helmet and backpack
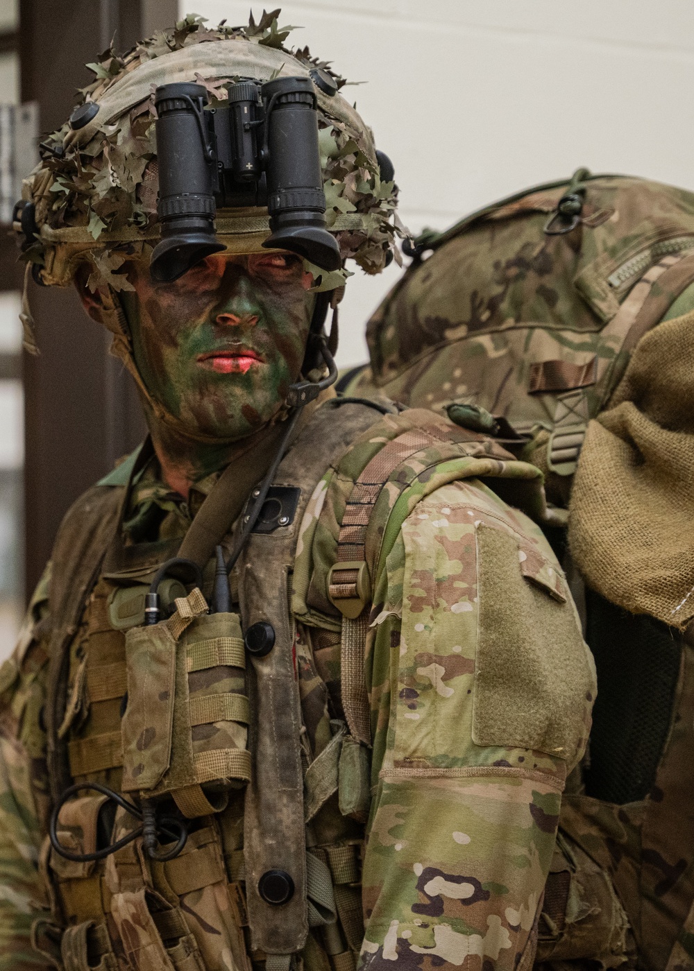
M 248 20 L 249 0 L 180 3 Z M 691 0 L 288 0 L 284 23 L 367 82 L 343 93 L 392 157 L 413 231 L 579 165 L 694 187 Z M 364 322 L 398 273 L 350 280 L 342 366 L 364 359 Z

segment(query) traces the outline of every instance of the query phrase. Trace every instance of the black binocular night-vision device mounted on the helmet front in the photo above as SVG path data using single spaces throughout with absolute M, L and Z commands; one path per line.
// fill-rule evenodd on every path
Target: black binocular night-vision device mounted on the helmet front
M 201 84 L 156 88 L 161 240 L 151 274 L 170 283 L 225 249 L 215 235 L 217 208 L 266 206 L 269 239 L 332 271 L 341 266 L 326 229 L 316 93 L 310 78 L 230 84 L 228 102 L 206 108 Z

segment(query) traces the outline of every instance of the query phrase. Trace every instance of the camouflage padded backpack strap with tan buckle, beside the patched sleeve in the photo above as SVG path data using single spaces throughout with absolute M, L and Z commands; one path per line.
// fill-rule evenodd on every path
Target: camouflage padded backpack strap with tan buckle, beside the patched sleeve
M 413 409 L 403 419 L 410 427 L 371 458 L 352 488 L 328 575 L 330 600 L 342 614 L 342 705 L 352 736 L 364 745 L 371 741 L 364 681 L 365 608 L 402 521 L 421 499 L 448 482 L 512 475 L 539 487 L 541 478 L 538 469 L 517 462 L 493 439 L 436 419 L 432 412 Z

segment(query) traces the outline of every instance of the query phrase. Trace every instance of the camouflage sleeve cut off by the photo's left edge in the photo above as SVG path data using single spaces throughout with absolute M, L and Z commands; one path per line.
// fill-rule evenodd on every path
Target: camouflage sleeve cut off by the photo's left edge
M 45 779 L 46 653 L 34 636 L 45 611 L 46 578 L 32 598 L 15 653 L 0 667 L 0 971 L 43 971 L 31 947 L 33 921 L 46 914 L 39 877 L 40 799 Z

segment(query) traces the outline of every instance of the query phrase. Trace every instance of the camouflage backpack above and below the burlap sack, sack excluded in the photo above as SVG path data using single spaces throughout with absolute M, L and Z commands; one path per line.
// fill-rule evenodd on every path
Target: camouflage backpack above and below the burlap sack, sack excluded
M 343 389 L 502 416 L 566 506 L 588 420 L 642 335 L 694 307 L 693 281 L 694 194 L 579 170 L 424 233 L 368 323 L 370 367 Z M 692 967 L 692 632 L 590 590 L 583 608 L 599 692 L 590 755 L 563 802 L 538 960 L 612 967 L 638 948 L 640 967 Z

